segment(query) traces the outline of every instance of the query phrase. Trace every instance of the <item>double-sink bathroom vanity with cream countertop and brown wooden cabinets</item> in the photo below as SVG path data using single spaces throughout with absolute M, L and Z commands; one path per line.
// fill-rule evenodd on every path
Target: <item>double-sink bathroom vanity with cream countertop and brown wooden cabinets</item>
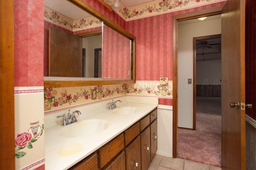
M 116 109 L 104 100 L 79 110 L 78 122 L 61 126 L 56 116 L 45 115 L 45 169 L 146 170 L 157 150 L 157 98 L 115 98 Z

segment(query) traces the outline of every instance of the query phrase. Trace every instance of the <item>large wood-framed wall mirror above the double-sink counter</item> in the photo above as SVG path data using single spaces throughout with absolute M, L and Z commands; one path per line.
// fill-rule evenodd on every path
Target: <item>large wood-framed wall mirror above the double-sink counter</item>
M 59 8 L 66 8 L 66 10 L 62 10 L 63 13 L 66 11 L 63 14 L 65 16 L 72 15 L 72 12 L 68 12 L 68 10 L 73 12 L 82 10 L 80 18 L 91 15 L 95 17 L 94 21 L 101 22 L 102 25 L 99 23 L 93 28 L 69 31 L 56 26 L 54 26 L 55 28 L 51 27 L 52 24 L 45 21 L 44 86 L 69 87 L 135 82 L 136 37 L 83 0 L 57 1 L 60 3 L 56 5 L 58 8 L 54 8 L 52 0 L 45 0 L 45 6 L 54 11 L 58 11 Z M 70 4 L 67 5 L 67 3 Z M 73 16 L 67 17 L 72 18 Z M 60 21 L 66 20 L 59 19 L 57 22 Z M 77 24 L 72 26 L 75 27 Z M 60 33 L 55 32 L 55 29 Z M 54 36 L 52 37 L 50 33 Z M 69 41 L 58 38 L 57 42 L 54 41 L 57 34 L 60 34 L 62 38 L 64 34 L 76 35 L 78 40 L 73 43 L 72 39 L 72 45 L 74 45 L 72 47 L 70 37 L 66 37 Z M 58 41 L 60 41 L 60 46 L 57 47 Z M 62 44 L 63 42 L 64 44 Z M 56 51 L 56 49 L 58 50 Z M 68 54 L 70 51 L 71 54 Z M 77 59 L 73 58 L 74 53 L 78 53 Z M 57 58 L 54 58 L 54 55 Z M 75 60 L 78 63 L 74 63 Z

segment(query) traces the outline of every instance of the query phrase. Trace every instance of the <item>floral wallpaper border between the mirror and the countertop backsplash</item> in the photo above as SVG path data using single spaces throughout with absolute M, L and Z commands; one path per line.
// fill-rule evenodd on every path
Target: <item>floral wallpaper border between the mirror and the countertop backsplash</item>
M 44 111 L 89 104 L 123 95 L 172 98 L 172 81 L 138 81 L 136 84 L 115 84 L 67 88 L 44 88 Z

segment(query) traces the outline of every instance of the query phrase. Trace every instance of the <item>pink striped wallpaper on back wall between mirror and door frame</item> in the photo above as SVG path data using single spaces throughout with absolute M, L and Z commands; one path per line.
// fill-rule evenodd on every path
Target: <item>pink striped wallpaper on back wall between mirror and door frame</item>
M 128 21 L 126 29 L 136 36 L 136 80 L 172 80 L 172 17 L 224 5 L 218 2 L 178 12 Z

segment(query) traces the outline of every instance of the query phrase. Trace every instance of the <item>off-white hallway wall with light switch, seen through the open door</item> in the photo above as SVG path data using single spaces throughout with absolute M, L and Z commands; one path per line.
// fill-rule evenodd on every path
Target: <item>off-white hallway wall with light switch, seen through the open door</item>
M 193 128 L 193 37 L 221 33 L 221 19 L 178 25 L 178 127 Z

